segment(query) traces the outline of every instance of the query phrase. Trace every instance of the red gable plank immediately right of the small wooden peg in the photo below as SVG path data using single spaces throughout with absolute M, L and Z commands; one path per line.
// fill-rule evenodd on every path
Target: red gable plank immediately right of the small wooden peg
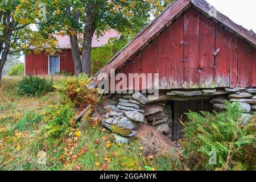
M 216 87 L 229 87 L 229 59 L 230 59 L 230 34 L 220 26 L 216 27 L 216 56 L 215 84 Z

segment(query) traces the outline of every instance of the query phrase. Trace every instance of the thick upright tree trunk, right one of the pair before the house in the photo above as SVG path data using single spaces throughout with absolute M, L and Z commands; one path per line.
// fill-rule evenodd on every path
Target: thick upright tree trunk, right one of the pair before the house
M 88 5 L 86 11 L 86 21 L 84 28 L 84 41 L 82 43 L 82 73 L 85 73 L 89 77 L 91 76 L 91 51 L 92 51 L 92 38 L 95 31 L 93 27 L 93 14 L 92 14 L 92 5 Z

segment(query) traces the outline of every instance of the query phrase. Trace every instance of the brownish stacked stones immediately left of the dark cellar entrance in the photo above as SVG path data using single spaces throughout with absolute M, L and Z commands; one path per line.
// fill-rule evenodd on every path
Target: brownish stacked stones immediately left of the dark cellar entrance
M 167 137 L 172 138 L 172 110 L 170 105 L 161 102 L 147 104 L 145 106 L 145 117 L 148 123 L 155 126 L 158 131 Z

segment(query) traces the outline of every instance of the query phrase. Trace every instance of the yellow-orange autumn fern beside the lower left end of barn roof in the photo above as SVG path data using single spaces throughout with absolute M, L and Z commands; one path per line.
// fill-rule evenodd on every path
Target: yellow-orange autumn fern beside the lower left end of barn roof
M 71 101 L 76 107 L 85 108 L 97 103 L 97 90 L 88 89 L 89 83 L 90 78 L 80 74 L 77 77 L 69 77 L 60 83 L 56 83 L 53 88 L 56 89 L 56 94 L 68 98 L 68 102 Z

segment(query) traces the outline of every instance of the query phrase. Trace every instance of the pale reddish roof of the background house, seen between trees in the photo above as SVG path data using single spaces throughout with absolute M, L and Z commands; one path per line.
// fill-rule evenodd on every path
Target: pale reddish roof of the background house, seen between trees
M 55 38 L 59 42 L 57 44 L 57 48 L 60 48 L 60 49 L 71 48 L 69 36 L 61 36 L 61 35 L 53 35 L 53 36 L 55 36 Z M 119 38 L 119 37 L 120 37 L 120 34 L 114 30 L 104 32 L 104 35 L 100 36 L 99 38 L 97 38 L 97 35 L 94 34 L 93 40 L 92 40 L 92 47 L 96 48 L 96 47 L 104 46 L 105 44 L 108 43 L 110 38 Z

